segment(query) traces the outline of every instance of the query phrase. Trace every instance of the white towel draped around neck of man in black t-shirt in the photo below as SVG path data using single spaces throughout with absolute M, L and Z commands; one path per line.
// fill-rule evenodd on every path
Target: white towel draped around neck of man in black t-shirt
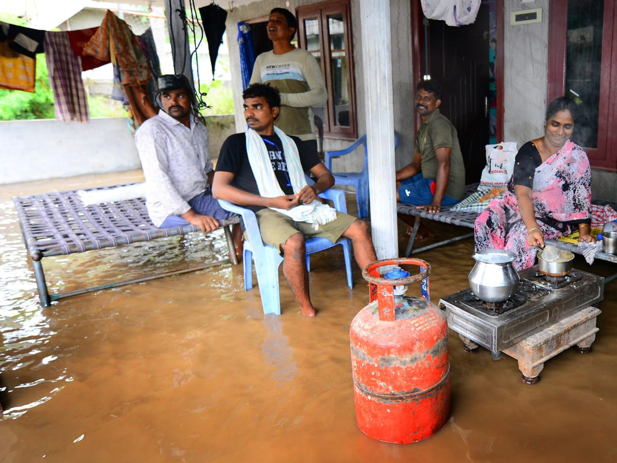
M 302 170 L 296 143 L 285 135 L 280 128 L 275 127 L 274 130 L 278 138 L 280 138 L 281 143 L 283 143 L 283 151 L 285 153 L 291 186 L 294 193 L 298 193 L 307 185 L 307 181 L 304 178 L 304 171 Z M 264 198 L 283 196 L 285 193 L 281 190 L 281 186 L 278 184 L 278 180 L 272 169 L 268 149 L 259 133 L 252 128 L 246 131 L 246 152 L 249 156 L 249 163 L 255 175 L 255 180 L 257 180 L 259 194 Z M 281 214 L 288 215 L 296 222 L 312 223 L 315 230 L 319 228 L 319 225 L 324 225 L 336 219 L 336 210 L 319 201 L 313 201 L 310 204 L 301 204 L 300 206 L 292 207 L 289 211 L 276 207 L 271 207 L 271 209 L 281 212 Z

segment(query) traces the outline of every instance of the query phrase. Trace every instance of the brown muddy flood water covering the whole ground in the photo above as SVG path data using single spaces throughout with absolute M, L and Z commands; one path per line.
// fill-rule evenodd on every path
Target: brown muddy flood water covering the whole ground
M 537 385 L 524 385 L 505 354 L 493 361 L 486 349 L 463 351 L 450 330 L 449 422 L 405 445 L 356 426 L 349 325 L 368 287 L 355 268 L 347 288 L 338 249 L 312 258 L 315 319 L 300 314 L 284 283 L 282 315 L 264 316 L 257 286 L 245 292 L 242 265 L 230 264 L 41 308 L 10 198 L 142 178 L 131 171 L 0 186 L 1 462 L 617 461 L 617 281 L 599 304 L 593 352 L 559 354 Z M 351 210 L 352 196 L 348 203 Z M 428 225 L 439 238 L 457 231 Z M 402 225 L 399 236 L 403 251 Z M 468 288 L 472 252 L 463 240 L 416 256 L 433 266 L 434 302 Z M 225 256 L 218 235 L 43 262 L 51 290 L 64 292 Z M 579 257 L 574 267 L 617 271 Z

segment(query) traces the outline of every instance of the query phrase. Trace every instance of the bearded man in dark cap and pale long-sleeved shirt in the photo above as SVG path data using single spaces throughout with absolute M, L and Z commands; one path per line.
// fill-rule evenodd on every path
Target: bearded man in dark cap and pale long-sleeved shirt
M 163 75 L 158 83 L 162 109 L 135 133 L 146 177 L 148 215 L 159 228 L 190 223 L 205 232 L 216 230 L 217 219 L 234 214 L 212 198 L 208 131 L 194 109 L 193 88 L 184 76 Z M 238 252 L 241 231 L 237 225 L 234 241 Z

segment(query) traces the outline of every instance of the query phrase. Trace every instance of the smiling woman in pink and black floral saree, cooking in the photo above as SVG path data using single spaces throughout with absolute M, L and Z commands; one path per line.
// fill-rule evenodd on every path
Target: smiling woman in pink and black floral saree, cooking
M 534 265 L 536 246 L 546 238 L 590 235 L 591 169 L 587 154 L 569 140 L 576 104 L 554 99 L 546 113 L 542 138 L 528 141 L 516 154 L 513 175 L 503 198 L 494 199 L 476 219 L 476 251 L 507 249 L 516 254 L 517 270 Z

